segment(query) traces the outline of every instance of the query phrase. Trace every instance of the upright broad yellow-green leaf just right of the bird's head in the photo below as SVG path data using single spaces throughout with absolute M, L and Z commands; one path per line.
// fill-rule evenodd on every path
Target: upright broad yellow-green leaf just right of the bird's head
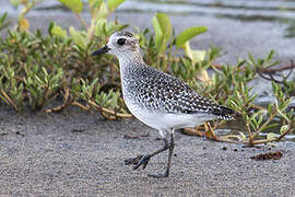
M 156 13 L 152 19 L 155 30 L 155 47 L 158 54 L 163 54 L 167 48 L 167 43 L 172 36 L 172 23 L 165 13 Z

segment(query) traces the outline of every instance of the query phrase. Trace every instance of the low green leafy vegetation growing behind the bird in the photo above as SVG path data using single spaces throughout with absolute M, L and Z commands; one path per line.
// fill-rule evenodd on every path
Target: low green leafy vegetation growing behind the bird
M 114 31 L 128 26 L 117 20 L 107 20 L 123 0 L 88 0 L 90 26 L 80 15 L 85 5 L 81 0 L 60 0 L 78 16 L 84 30 L 69 27 L 67 31 L 51 23 L 48 35 L 28 31 L 25 14 L 36 2 L 21 2 L 24 10 L 15 28 L 7 30 L 7 14 L 0 18 L 0 31 L 8 31 L 7 37 L 0 38 L 0 104 L 10 105 L 17 112 L 47 113 L 76 105 L 83 109 L 97 109 L 108 119 L 131 117 L 120 94 L 116 58 L 107 55 L 94 59 L 90 56 Z M 294 130 L 294 108 L 290 103 L 295 95 L 295 79 L 290 79 L 290 74 L 279 79 L 273 76 L 278 65 L 272 60 L 273 51 L 264 59 L 256 60 L 249 55 L 247 60 L 235 66 L 214 65 L 220 49 L 196 50 L 189 44 L 192 37 L 206 32 L 206 27 L 190 27 L 175 35 L 164 13 L 156 13 L 151 23 L 154 31 L 137 32 L 145 62 L 181 78 L 200 94 L 237 111 L 240 115 L 236 118 L 245 125 L 239 131 L 248 131 L 248 135 L 216 137 L 214 128 L 223 123 L 213 121 L 213 129 L 210 124 L 205 126 L 208 137 L 253 146 L 279 141 Z M 208 71 L 212 72 L 210 77 Z M 249 84 L 259 76 L 271 81 L 275 103 L 255 104 L 257 94 Z M 261 139 L 260 132 L 272 127 L 278 127 L 281 135 L 269 132 Z

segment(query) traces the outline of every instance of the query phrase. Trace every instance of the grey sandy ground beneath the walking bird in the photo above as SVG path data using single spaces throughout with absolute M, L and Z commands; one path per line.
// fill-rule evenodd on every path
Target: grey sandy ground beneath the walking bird
M 126 139 L 125 135 L 146 136 Z M 109 121 L 68 108 L 59 114 L 15 114 L 0 107 L 0 194 L 52 196 L 294 196 L 295 146 L 245 148 L 176 134 L 170 176 L 163 153 L 145 170 L 127 158 L 162 146 L 157 131 L 134 120 Z M 226 150 L 224 150 L 226 149 Z M 271 150 L 270 150 L 271 149 Z M 255 161 L 268 151 L 281 160 Z

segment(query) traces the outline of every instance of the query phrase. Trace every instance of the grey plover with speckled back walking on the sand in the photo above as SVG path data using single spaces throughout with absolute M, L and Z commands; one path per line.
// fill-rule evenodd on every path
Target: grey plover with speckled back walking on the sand
M 126 160 L 133 170 L 145 169 L 150 159 L 168 150 L 168 162 L 164 174 L 169 175 L 174 150 L 174 130 L 196 127 L 212 119 L 234 119 L 233 109 L 217 105 L 197 94 L 180 79 L 156 70 L 144 63 L 139 40 L 132 33 L 116 32 L 108 43 L 92 55 L 113 54 L 119 59 L 122 95 L 128 109 L 141 121 L 160 131 L 164 147 L 146 155 Z

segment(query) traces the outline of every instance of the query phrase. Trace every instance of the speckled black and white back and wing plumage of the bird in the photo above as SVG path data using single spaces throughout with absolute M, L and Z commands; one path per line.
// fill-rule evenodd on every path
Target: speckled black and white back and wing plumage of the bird
M 234 111 L 198 95 L 180 79 L 144 63 L 128 65 L 122 70 L 125 97 L 141 108 L 170 114 L 208 113 L 231 120 Z

